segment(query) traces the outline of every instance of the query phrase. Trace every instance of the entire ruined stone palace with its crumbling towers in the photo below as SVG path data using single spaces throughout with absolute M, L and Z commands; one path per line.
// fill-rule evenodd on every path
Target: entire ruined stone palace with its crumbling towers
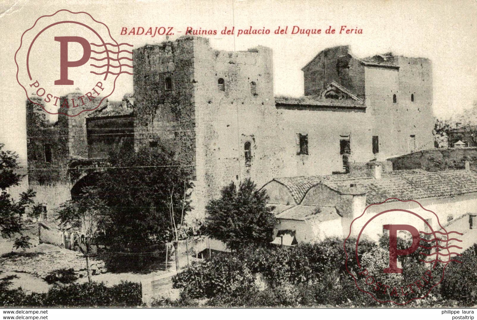
M 302 98 L 275 97 L 269 48 L 223 52 L 182 37 L 135 49 L 133 97 L 56 124 L 27 103 L 30 185 L 53 209 L 93 175 L 72 176 L 72 167 L 101 167 L 114 147 L 167 145 L 178 164 L 193 166 L 202 215 L 230 181 L 250 177 L 261 187 L 280 176 L 360 171 L 372 159 L 433 147 L 428 59 L 358 59 L 339 46 L 302 71 Z

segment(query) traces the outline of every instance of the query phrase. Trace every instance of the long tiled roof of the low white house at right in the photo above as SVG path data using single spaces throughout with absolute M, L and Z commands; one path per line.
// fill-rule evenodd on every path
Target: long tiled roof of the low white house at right
M 453 196 L 477 192 L 477 173 L 467 170 L 427 172 L 397 170 L 383 172 L 380 179 L 362 174 L 301 176 L 275 178 L 284 185 L 297 204 L 306 192 L 319 183 L 338 192 L 349 190 L 351 184 L 366 191 L 366 203 L 379 203 L 388 198 L 401 200 L 435 196 Z

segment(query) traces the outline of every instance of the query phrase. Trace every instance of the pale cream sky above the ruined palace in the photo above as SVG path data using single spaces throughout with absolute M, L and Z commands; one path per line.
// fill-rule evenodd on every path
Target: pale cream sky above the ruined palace
M 0 143 L 26 157 L 25 100 L 16 81 L 14 55 L 21 34 L 41 15 L 60 9 L 89 12 L 104 22 L 118 42 L 135 48 L 159 43 L 165 36 L 121 35 L 126 27 L 173 27 L 169 40 L 187 27 L 222 30 L 270 29 L 269 35 L 210 35 L 212 48 L 241 51 L 257 45 L 273 50 L 275 95 L 303 95 L 301 68 L 321 50 L 349 44 L 356 57 L 393 52 L 408 57 L 429 58 L 433 64 L 434 114 L 449 118 L 477 101 L 477 1 L 435 0 L 144 0 L 144 1 L 50 1 L 3 0 L 0 4 Z M 280 27 L 304 29 L 329 26 L 335 34 L 275 35 Z M 341 26 L 362 29 L 362 34 L 338 34 Z M 178 32 L 182 31 L 182 32 Z M 290 30 L 289 30 L 290 33 Z M 54 72 L 57 62 L 44 61 Z M 132 76 L 122 74 L 110 100 L 133 92 Z M 73 91 L 74 88 L 66 88 Z M 83 88 L 80 88 L 83 89 Z M 84 88 L 83 91 L 88 88 Z

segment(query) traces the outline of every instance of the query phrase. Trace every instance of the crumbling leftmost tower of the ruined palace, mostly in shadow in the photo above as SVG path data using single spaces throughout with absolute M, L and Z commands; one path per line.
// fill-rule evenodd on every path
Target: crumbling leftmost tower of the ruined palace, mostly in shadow
M 76 106 L 82 95 L 77 91 L 60 98 L 58 110 L 63 114 L 58 114 L 56 123 L 46 120 L 46 112 L 41 106 L 26 102 L 28 181 L 36 192 L 35 201 L 47 206 L 49 217 L 61 203 L 71 199 L 72 183 L 68 172 L 71 160 L 88 158 L 88 112 L 66 115 L 78 114 L 81 109 L 93 109 L 99 103 L 97 98 L 90 102 L 84 97 L 84 105 Z M 32 96 L 31 99 L 44 106 L 40 97 Z M 72 99 L 76 101 L 74 107 Z

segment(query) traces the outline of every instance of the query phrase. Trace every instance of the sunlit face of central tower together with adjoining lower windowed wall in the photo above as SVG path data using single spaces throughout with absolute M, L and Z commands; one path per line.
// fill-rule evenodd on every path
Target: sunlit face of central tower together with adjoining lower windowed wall
M 260 188 L 274 177 L 342 171 L 342 136 L 350 139 L 351 164 L 373 158 L 369 117 L 363 110 L 275 106 L 270 49 L 219 52 L 206 39 L 193 43 L 197 186 L 204 199 L 247 177 Z M 297 155 L 297 134 L 308 134 L 309 155 Z

